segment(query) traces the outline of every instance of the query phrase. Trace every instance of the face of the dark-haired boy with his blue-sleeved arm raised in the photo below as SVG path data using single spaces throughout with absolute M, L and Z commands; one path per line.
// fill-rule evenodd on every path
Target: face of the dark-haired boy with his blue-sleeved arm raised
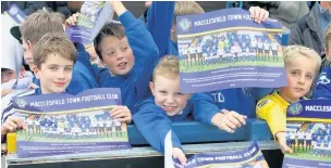
M 126 37 L 106 37 L 101 41 L 101 54 L 105 65 L 113 75 L 126 75 L 134 66 L 132 49 Z

